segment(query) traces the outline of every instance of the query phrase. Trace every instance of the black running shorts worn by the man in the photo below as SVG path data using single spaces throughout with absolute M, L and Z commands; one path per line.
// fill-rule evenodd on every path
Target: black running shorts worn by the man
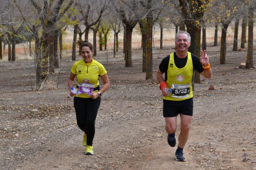
M 163 100 L 163 117 L 175 117 L 179 113 L 193 116 L 193 98 L 182 101 Z

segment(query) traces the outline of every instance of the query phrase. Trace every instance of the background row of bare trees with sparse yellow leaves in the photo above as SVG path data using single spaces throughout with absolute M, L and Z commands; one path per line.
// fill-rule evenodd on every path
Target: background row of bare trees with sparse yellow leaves
M 109 34 L 114 32 L 115 57 L 120 50 L 118 35 L 123 30 L 125 67 L 132 67 L 132 35 L 137 25 L 142 35 L 142 72 L 146 72 L 146 79 L 151 79 L 153 26 L 160 27 L 160 48 L 163 48 L 163 27 L 174 25 L 176 32 L 185 30 L 190 33 L 188 51 L 199 57 L 201 49 L 207 48 L 206 28 L 215 28 L 215 46 L 218 45 L 218 29 L 221 29 L 219 63 L 225 64 L 227 30 L 234 22 L 233 50 L 238 50 L 239 43 L 245 48 L 248 42 L 246 69 L 250 69 L 254 68 L 255 8 L 256 0 L 2 0 L 0 60 L 8 45 L 8 61 L 15 62 L 16 43 L 27 43 L 35 63 L 36 89 L 40 89 L 47 76 L 60 67 L 62 35 L 67 27 L 73 27 L 71 60 L 76 60 L 77 44 L 88 40 L 90 30 L 93 32 L 94 56 L 97 51 L 103 51 L 103 46 L 107 50 Z M 237 41 L 239 23 L 242 23 L 241 42 Z M 193 82 L 200 83 L 198 72 L 194 72 Z

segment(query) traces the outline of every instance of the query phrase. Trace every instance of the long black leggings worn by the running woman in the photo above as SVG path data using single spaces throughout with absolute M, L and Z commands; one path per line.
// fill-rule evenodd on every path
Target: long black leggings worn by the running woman
M 95 120 L 99 110 L 100 101 L 100 97 L 96 99 L 74 97 L 77 125 L 87 135 L 87 145 L 93 145 Z

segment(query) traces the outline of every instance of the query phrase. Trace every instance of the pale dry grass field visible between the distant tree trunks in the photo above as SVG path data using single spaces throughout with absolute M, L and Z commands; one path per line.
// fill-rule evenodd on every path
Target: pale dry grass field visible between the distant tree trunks
M 207 45 L 213 45 L 214 42 L 214 27 L 213 28 L 207 28 L 207 37 L 206 42 Z M 256 32 L 256 27 L 254 27 L 254 32 Z M 241 42 L 241 27 L 239 27 L 238 30 L 239 36 L 238 36 L 238 46 L 240 45 L 239 42 Z M 157 48 L 160 46 L 160 29 L 158 27 L 153 28 L 153 47 Z M 113 51 L 113 44 L 114 44 L 114 32 L 112 31 L 109 36 L 108 41 L 108 51 Z M 256 38 L 256 35 L 254 35 Z M 98 37 L 97 37 L 98 38 Z M 119 49 L 123 50 L 123 30 L 119 33 L 118 39 L 120 42 Z M 163 29 L 163 47 L 170 48 L 174 46 L 174 39 L 175 39 L 175 29 Z M 220 44 L 221 39 L 221 28 L 219 27 L 218 30 L 218 44 Z M 71 48 L 72 48 L 72 41 L 73 41 L 73 28 L 69 27 L 67 29 L 67 33 L 63 36 L 63 55 L 71 55 Z M 98 41 L 98 39 L 97 39 Z M 234 26 L 228 27 L 228 34 L 227 34 L 227 42 L 233 42 L 234 41 Z M 93 32 L 89 33 L 89 42 L 93 42 Z M 32 47 L 34 46 L 34 42 L 32 42 Z M 8 61 L 8 47 L 5 49 L 5 55 L 3 55 L 3 60 L 0 60 L 0 62 Z M 97 48 L 99 48 L 99 45 L 97 45 Z M 103 47 L 104 48 L 104 47 Z M 132 37 L 132 48 L 138 49 L 141 48 L 141 34 L 139 33 L 139 30 L 135 28 L 133 30 L 133 37 Z M 24 59 L 33 59 L 33 56 L 29 56 L 29 50 L 28 50 L 28 44 L 18 44 L 16 45 L 16 60 L 24 60 Z

